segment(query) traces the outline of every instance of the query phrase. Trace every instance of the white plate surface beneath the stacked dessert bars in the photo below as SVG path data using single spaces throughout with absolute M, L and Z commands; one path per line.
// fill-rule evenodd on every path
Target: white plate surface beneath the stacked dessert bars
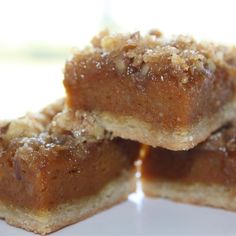
M 34 234 L 1 221 L 0 235 L 32 236 Z M 138 193 L 132 194 L 127 202 L 51 235 L 236 235 L 236 213 L 144 198 Z

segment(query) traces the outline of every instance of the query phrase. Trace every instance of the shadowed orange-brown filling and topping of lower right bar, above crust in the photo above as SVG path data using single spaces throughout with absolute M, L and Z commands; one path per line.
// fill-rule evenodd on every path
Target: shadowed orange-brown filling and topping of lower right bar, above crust
M 150 147 L 143 160 L 143 178 L 186 184 L 236 184 L 235 127 L 222 128 L 189 151 Z

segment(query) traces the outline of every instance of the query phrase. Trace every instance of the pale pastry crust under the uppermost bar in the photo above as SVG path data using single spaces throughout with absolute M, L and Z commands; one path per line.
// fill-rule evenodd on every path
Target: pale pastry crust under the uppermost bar
M 189 150 L 205 140 L 208 133 L 213 132 L 225 122 L 234 119 L 236 103 L 225 105 L 212 117 L 202 119 L 191 128 L 179 131 L 159 130 L 157 127 L 135 119 L 134 117 L 114 115 L 109 112 L 85 112 L 87 117 L 93 117 L 95 126 L 99 126 L 112 133 L 114 137 L 138 140 L 141 143 L 153 147 L 158 143 L 160 147 L 168 147 L 170 150 Z

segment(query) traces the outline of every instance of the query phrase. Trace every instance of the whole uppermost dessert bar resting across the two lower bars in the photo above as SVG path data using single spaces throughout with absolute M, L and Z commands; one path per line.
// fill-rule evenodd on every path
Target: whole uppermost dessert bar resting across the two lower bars
M 114 136 L 187 150 L 236 115 L 236 50 L 190 37 L 102 32 L 65 67 L 70 108 Z

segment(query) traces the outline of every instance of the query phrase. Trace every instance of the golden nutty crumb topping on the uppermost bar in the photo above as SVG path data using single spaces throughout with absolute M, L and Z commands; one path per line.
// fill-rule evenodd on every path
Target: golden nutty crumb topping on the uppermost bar
M 87 60 L 93 60 L 96 70 L 101 70 L 109 58 L 114 64 L 112 70 L 120 75 L 165 79 L 171 73 L 183 85 L 199 78 L 199 74 L 213 76 L 217 67 L 226 68 L 236 76 L 235 48 L 199 43 L 187 36 L 166 39 L 158 30 L 152 30 L 146 36 L 139 32 L 110 34 L 102 31 L 91 43 L 90 49 L 78 52 L 68 64 L 80 66 L 83 71 L 87 57 Z M 75 70 L 74 78 L 85 79 L 86 75 Z

